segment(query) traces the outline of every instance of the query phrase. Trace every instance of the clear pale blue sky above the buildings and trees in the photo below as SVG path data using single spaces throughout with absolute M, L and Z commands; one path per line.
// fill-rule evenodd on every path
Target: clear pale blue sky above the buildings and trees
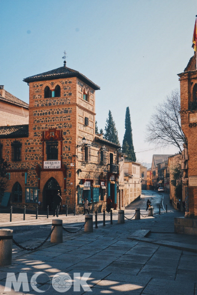
M 146 123 L 194 54 L 196 0 L 0 0 L 0 10 L 0 85 L 29 102 L 23 79 L 63 66 L 66 50 L 67 66 L 101 88 L 99 129 L 110 109 L 122 143 L 129 106 L 135 151 L 155 148 L 144 143 Z

